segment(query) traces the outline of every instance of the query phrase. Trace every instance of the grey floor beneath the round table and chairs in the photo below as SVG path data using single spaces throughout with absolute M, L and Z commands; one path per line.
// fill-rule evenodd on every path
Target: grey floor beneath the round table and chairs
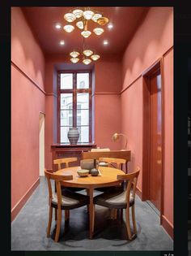
M 56 243 L 54 217 L 51 237 L 46 237 L 48 188 L 45 177 L 40 177 L 40 185 L 11 223 L 11 250 L 173 250 L 173 241 L 159 225 L 159 215 L 151 206 L 136 197 L 135 211 L 138 237 L 134 241 L 126 240 L 125 216 L 123 221 L 108 219 L 108 209 L 102 206 L 96 206 L 95 235 L 89 240 L 89 218 L 84 206 L 70 210 L 68 227 L 62 213 L 62 230 Z

